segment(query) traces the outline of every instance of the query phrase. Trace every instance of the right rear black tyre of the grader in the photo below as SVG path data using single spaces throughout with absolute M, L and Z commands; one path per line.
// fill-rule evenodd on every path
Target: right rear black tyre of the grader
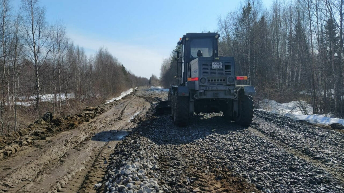
M 241 94 L 238 102 L 238 116 L 234 122 L 244 127 L 250 126 L 253 119 L 254 107 L 253 97 Z

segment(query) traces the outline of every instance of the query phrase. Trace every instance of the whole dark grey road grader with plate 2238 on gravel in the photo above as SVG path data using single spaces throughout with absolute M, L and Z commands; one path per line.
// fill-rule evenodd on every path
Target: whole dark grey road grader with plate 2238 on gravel
M 253 86 L 239 86 L 234 57 L 218 56 L 217 33 L 186 33 L 180 38 L 181 53 L 175 52 L 181 82 L 171 85 L 173 122 L 185 126 L 195 113 L 222 111 L 225 119 L 248 126 L 253 117 Z

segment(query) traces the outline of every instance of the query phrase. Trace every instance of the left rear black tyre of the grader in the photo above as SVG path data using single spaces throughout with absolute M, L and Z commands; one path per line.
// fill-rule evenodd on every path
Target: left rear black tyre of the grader
M 189 96 L 178 96 L 178 92 L 173 97 L 173 123 L 176 126 L 183 127 L 189 122 Z

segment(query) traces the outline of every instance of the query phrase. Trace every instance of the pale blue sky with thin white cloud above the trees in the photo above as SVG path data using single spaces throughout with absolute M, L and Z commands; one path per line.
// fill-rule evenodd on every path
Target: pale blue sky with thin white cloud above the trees
M 271 1 L 262 0 L 265 5 Z M 20 0 L 14 0 L 18 7 Z M 68 36 L 91 55 L 105 47 L 135 75 L 160 75 L 163 58 L 187 32 L 215 31 L 240 0 L 41 0 L 46 20 L 62 20 Z

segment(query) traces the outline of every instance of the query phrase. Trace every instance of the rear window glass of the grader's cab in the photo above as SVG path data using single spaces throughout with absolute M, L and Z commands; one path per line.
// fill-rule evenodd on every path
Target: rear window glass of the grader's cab
M 197 51 L 201 50 L 203 57 L 211 57 L 213 55 L 213 42 L 210 38 L 192 38 L 191 39 L 191 56 L 197 57 Z

